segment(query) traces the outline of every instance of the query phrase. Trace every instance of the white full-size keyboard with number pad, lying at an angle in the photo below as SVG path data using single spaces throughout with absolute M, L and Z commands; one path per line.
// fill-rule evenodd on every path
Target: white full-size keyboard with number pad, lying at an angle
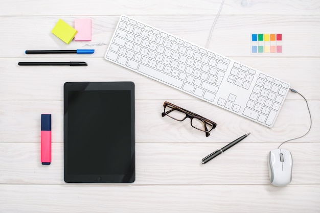
M 122 15 L 105 59 L 272 127 L 290 84 Z

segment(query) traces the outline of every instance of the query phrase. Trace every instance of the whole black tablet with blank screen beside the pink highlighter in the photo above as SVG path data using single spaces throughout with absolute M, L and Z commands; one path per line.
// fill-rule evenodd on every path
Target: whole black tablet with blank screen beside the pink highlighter
M 135 179 L 133 82 L 64 84 L 64 181 Z

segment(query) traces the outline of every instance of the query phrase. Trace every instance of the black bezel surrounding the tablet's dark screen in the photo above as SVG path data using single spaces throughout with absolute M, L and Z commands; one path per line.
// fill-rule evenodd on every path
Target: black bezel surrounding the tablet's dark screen
M 64 83 L 64 181 L 67 183 L 132 183 L 135 180 L 135 100 L 133 82 L 66 82 Z M 130 114 L 131 114 L 131 133 L 130 134 L 130 174 L 90 174 L 90 175 L 71 175 L 68 173 L 68 91 L 110 91 L 110 90 L 129 90 L 130 91 Z

